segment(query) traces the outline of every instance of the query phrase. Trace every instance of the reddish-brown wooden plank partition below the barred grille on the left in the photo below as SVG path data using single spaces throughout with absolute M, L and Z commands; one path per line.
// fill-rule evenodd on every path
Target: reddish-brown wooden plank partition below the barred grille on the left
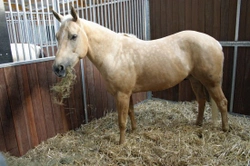
M 59 78 L 52 72 L 53 61 L 0 68 L 0 151 L 20 156 L 42 141 L 78 128 L 85 123 L 81 67 L 75 67 L 77 81 L 64 105 L 53 102 L 50 87 Z M 115 110 L 99 71 L 87 59 L 85 82 L 88 120 Z M 135 103 L 145 93 L 133 95 Z

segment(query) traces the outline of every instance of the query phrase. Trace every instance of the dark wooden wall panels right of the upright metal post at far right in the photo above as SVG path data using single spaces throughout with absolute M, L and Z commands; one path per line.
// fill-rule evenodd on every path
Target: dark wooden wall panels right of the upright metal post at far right
M 241 1 L 239 40 L 250 41 L 250 1 Z M 234 112 L 250 115 L 250 47 L 238 48 Z

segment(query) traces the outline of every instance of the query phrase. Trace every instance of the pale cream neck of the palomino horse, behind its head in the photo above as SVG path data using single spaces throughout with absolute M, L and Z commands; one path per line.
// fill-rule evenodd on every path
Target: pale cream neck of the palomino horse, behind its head
M 89 44 L 87 56 L 98 68 L 106 56 L 118 51 L 118 34 L 90 21 L 83 20 L 83 24 Z

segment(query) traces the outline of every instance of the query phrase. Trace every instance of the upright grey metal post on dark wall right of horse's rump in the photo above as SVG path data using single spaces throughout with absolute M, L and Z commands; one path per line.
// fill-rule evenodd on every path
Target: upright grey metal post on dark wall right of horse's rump
M 235 25 L 235 38 L 234 38 L 235 41 L 238 41 L 238 36 L 239 36 L 240 7 L 241 7 L 241 0 L 238 0 L 237 1 L 237 13 L 236 13 L 236 25 Z M 235 46 L 234 47 L 234 60 L 233 60 L 233 73 L 232 73 L 232 89 L 231 89 L 231 98 L 230 98 L 229 112 L 233 112 L 237 57 L 238 57 L 238 47 Z

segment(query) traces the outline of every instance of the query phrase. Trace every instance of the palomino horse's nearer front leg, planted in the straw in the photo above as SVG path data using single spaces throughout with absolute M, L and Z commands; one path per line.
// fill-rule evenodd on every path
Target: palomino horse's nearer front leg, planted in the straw
M 120 144 L 125 142 L 125 131 L 129 110 L 129 98 L 131 94 L 118 92 L 116 95 L 116 107 L 118 111 L 118 124 L 120 129 Z

